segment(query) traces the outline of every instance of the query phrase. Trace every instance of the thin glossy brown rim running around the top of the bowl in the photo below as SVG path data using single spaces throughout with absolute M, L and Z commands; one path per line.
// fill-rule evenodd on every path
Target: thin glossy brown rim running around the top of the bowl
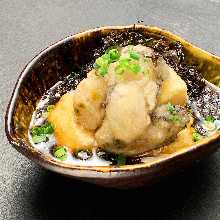
M 176 40 L 179 40 L 180 42 L 183 42 L 185 45 L 191 46 L 196 48 L 197 50 L 200 50 L 202 53 L 205 55 L 210 56 L 211 58 L 216 59 L 218 62 L 220 62 L 220 58 L 216 55 L 213 55 L 207 51 L 204 51 L 191 43 L 187 42 L 183 38 L 179 37 L 178 35 L 175 35 L 167 30 L 164 30 L 159 27 L 155 26 L 147 26 L 143 24 L 133 24 L 133 25 L 122 25 L 122 26 L 103 26 L 103 27 L 98 27 L 98 28 L 93 28 L 89 29 L 86 31 L 79 32 L 77 34 L 72 34 L 69 35 L 51 45 L 46 47 L 45 49 L 41 50 L 31 61 L 27 63 L 27 65 L 24 67 L 24 69 L 21 71 L 20 75 L 17 78 L 17 81 L 15 83 L 9 104 L 7 106 L 6 114 L 5 114 L 5 132 L 6 136 L 8 138 L 9 143 L 15 147 L 19 152 L 24 154 L 26 157 L 28 157 L 31 160 L 34 160 L 44 167 L 48 169 L 52 169 L 51 167 L 55 166 L 57 168 L 64 168 L 64 169 L 70 169 L 70 170 L 86 170 L 86 171 L 95 171 L 95 172 L 101 172 L 101 173 L 108 173 L 108 172 L 127 172 L 127 171 L 132 171 L 132 170 L 140 170 L 140 169 L 148 169 L 148 168 L 156 168 L 168 161 L 171 161 L 175 158 L 178 158 L 179 156 L 184 156 L 186 154 L 193 153 L 199 148 L 205 148 L 209 147 L 208 145 L 212 143 L 216 143 L 218 140 L 220 140 L 220 131 L 216 132 L 215 134 L 211 135 L 209 138 L 206 138 L 199 143 L 188 147 L 181 149 L 173 154 L 167 155 L 164 158 L 158 158 L 157 160 L 154 160 L 152 162 L 146 162 L 146 163 L 141 163 L 141 164 L 133 164 L 133 165 L 125 165 L 125 166 L 80 166 L 80 165 L 74 165 L 74 164 L 68 164 L 68 163 L 63 163 L 60 162 L 56 159 L 52 159 L 50 157 L 47 157 L 45 154 L 41 153 L 39 150 L 33 148 L 32 146 L 26 144 L 24 141 L 14 138 L 12 136 L 12 127 L 11 127 L 11 122 L 12 122 L 12 115 L 15 109 L 15 103 L 16 99 L 18 97 L 18 93 L 22 84 L 23 79 L 25 76 L 28 74 L 29 69 L 32 67 L 32 65 L 37 62 L 38 59 L 40 59 L 43 55 L 45 55 L 47 52 L 53 50 L 59 45 L 64 44 L 65 42 L 72 40 L 74 38 L 80 38 L 83 37 L 86 34 L 92 34 L 95 32 L 103 31 L 103 30 L 120 30 L 120 29 L 145 29 L 149 32 L 153 33 L 159 33 L 162 35 L 165 35 L 170 38 L 175 38 Z M 56 171 L 56 170 L 55 170 Z

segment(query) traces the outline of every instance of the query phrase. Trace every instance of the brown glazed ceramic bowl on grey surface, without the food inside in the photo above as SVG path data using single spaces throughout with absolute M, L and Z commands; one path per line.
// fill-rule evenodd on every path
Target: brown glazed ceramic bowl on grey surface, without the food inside
M 31 146 L 28 140 L 29 123 L 36 103 L 43 93 L 67 76 L 73 66 L 87 63 L 89 60 L 86 55 L 96 47 L 100 37 L 110 32 L 127 30 L 141 30 L 146 34 L 180 41 L 187 64 L 196 64 L 205 79 L 220 85 L 220 58 L 166 30 L 145 25 L 108 26 L 88 30 L 69 36 L 48 47 L 30 61 L 20 74 L 5 117 L 6 134 L 13 147 L 46 169 L 98 185 L 118 188 L 150 184 L 162 176 L 190 165 L 218 148 L 219 132 L 192 147 L 152 162 L 122 167 L 86 167 L 58 162 Z

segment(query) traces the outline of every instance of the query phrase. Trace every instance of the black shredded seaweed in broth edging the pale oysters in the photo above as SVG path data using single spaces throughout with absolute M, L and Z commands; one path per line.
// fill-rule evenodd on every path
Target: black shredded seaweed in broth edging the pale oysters
M 162 56 L 166 63 L 186 82 L 189 95 L 188 108 L 192 109 L 192 115 L 195 119 L 193 127 L 201 135 L 207 135 L 207 131 L 203 128 L 201 121 L 208 115 L 214 116 L 216 119 L 220 117 L 218 110 L 220 106 L 220 94 L 205 82 L 195 66 L 189 66 L 185 63 L 183 47 L 180 42 L 172 42 L 165 37 L 145 34 L 142 31 L 136 30 L 111 33 L 101 38 L 98 48 L 93 50 L 94 59 L 90 63 L 82 66 L 78 72 L 70 73 L 68 77 L 44 94 L 42 100 L 47 99 L 47 103 L 36 110 L 35 118 L 40 118 L 47 106 L 58 102 L 60 97 L 66 92 L 74 90 L 79 82 L 86 77 L 86 73 L 93 68 L 95 59 L 105 53 L 107 49 L 138 44 L 153 48 L 156 52 L 153 61 L 157 62 L 157 58 Z M 118 165 L 118 155 L 104 152 L 101 149 L 98 149 L 96 154 L 98 157 L 110 161 L 112 165 Z M 78 157 L 77 155 L 75 156 Z M 89 152 L 82 152 L 82 156 L 82 160 L 91 158 Z M 125 164 L 137 163 L 141 163 L 140 157 L 125 158 Z

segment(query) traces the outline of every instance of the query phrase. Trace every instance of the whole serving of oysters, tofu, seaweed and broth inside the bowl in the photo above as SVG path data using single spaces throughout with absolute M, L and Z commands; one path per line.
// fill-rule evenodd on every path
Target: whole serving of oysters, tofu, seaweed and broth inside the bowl
M 121 39 L 124 39 L 124 41 Z M 85 111 L 77 117 L 77 123 L 75 125 L 78 126 L 77 124 L 80 124 L 81 127 L 86 129 L 86 132 L 77 134 L 75 137 L 71 136 L 71 132 L 69 136 L 68 132 L 66 132 L 66 136 L 64 136 L 62 132 L 59 132 L 62 129 L 65 129 L 62 127 L 64 124 L 62 121 L 68 116 L 68 111 L 59 111 L 59 109 L 69 109 L 69 106 L 72 107 L 74 105 L 74 114 L 77 115 L 82 111 L 80 108 L 83 107 L 85 110 L 85 106 L 88 102 L 88 97 L 86 98 L 86 102 L 84 102 L 83 100 L 85 100 L 85 96 L 80 94 L 80 89 L 78 89 L 78 87 L 76 89 L 76 86 L 82 80 L 81 74 L 73 73 L 63 82 L 56 84 L 48 90 L 39 102 L 30 125 L 30 139 L 32 139 L 32 141 L 34 137 L 32 127 L 45 123 L 49 116 L 48 119 L 50 122 L 58 121 L 55 123 L 54 128 L 55 137 L 60 142 L 59 145 L 64 145 L 65 149 L 67 149 L 67 155 L 64 162 L 73 164 L 78 164 L 79 162 L 80 165 L 85 164 L 91 166 L 110 164 L 124 165 L 142 161 L 145 162 L 147 159 L 152 159 L 152 155 L 153 157 L 162 157 L 164 154 L 175 152 L 181 147 L 190 147 L 195 141 L 205 138 L 205 136 L 215 132 L 219 128 L 219 112 L 213 112 L 211 110 L 218 109 L 219 103 L 217 101 L 210 102 L 210 106 L 206 107 L 206 105 L 204 105 L 205 103 L 202 102 L 200 95 L 203 94 L 203 98 L 208 97 L 210 100 L 214 95 L 215 100 L 219 100 L 219 94 L 206 85 L 195 68 L 184 64 L 184 54 L 182 52 L 182 47 L 178 42 L 168 42 L 166 39 L 146 38 L 144 35 L 135 32 L 126 32 L 120 35 L 112 34 L 102 39 L 102 42 L 102 47 L 94 51 L 96 58 L 96 62 L 94 63 L 96 65 L 98 64 L 98 67 L 95 67 L 97 70 L 92 70 L 91 65 L 82 69 L 84 73 L 89 72 L 89 77 L 86 80 L 93 80 L 93 78 L 98 77 L 98 80 L 102 81 L 102 77 L 107 78 L 103 85 L 100 85 L 102 82 L 95 85 L 96 91 L 100 86 L 102 87 L 102 91 L 104 87 L 108 88 L 107 90 L 104 89 L 105 92 L 99 93 L 98 96 L 97 94 L 94 94 L 95 99 L 98 97 L 105 100 L 105 102 L 98 103 L 98 108 L 89 109 L 89 111 Z M 114 48 L 112 48 L 112 46 L 114 46 Z M 106 51 L 108 50 L 120 51 L 122 60 L 126 65 L 120 66 L 120 62 L 123 62 L 117 60 L 111 64 L 106 64 L 110 70 L 102 68 L 102 63 L 100 64 L 100 62 L 104 61 L 99 58 L 102 57 L 103 54 L 106 54 Z M 141 56 L 142 50 L 145 51 L 144 56 Z M 148 51 L 146 52 L 146 50 Z M 133 58 L 131 58 L 131 61 L 125 60 L 127 58 L 126 56 L 132 54 L 131 51 L 133 51 Z M 141 65 L 140 63 L 142 62 L 143 57 L 147 62 L 143 62 Z M 97 62 L 98 59 L 99 62 Z M 162 76 L 159 76 L 159 79 L 156 80 L 155 78 L 158 77 L 158 74 L 155 75 L 154 72 L 157 70 L 153 71 L 153 69 L 158 68 L 158 66 L 160 67 L 159 75 L 163 72 L 170 72 L 170 78 L 167 78 L 167 75 L 169 74 L 164 74 L 164 76 L 162 74 Z M 127 68 L 130 68 L 130 72 L 127 72 Z M 111 69 L 114 69 L 114 71 L 111 71 Z M 148 72 L 145 73 L 145 70 Z M 97 76 L 97 73 L 101 76 Z M 115 77 L 117 74 L 122 77 Z M 147 80 L 145 80 L 146 75 Z M 142 77 L 144 80 L 142 80 Z M 85 82 L 84 84 L 86 84 L 86 80 L 83 81 Z M 124 81 L 126 81 L 126 83 Z M 164 81 L 166 81 L 166 84 L 163 84 Z M 178 88 L 173 88 L 173 81 L 177 82 Z M 97 79 L 93 82 L 97 83 Z M 83 85 L 83 83 L 80 84 L 80 86 L 81 85 Z M 186 93 L 186 86 L 188 89 L 188 95 Z M 81 89 L 83 89 L 82 87 L 83 86 L 81 86 Z M 84 87 L 88 88 L 86 85 L 84 85 Z M 144 98 L 142 96 L 144 90 L 142 91 L 141 88 L 146 89 L 148 87 L 149 91 L 147 91 L 147 94 L 150 93 L 151 96 Z M 74 89 L 76 89 L 75 92 L 72 92 Z M 66 92 L 69 93 L 64 95 Z M 155 93 L 155 95 L 153 95 L 153 93 Z M 100 95 L 103 97 L 100 97 Z M 58 102 L 61 96 L 62 98 Z M 74 96 L 78 97 L 76 98 Z M 157 102 L 159 104 L 155 103 L 156 98 L 152 98 L 154 96 L 157 97 Z M 125 108 L 124 110 L 122 109 L 123 111 L 121 112 L 119 111 L 120 104 L 123 103 L 124 98 L 118 101 L 118 97 L 125 98 L 124 105 L 133 102 L 133 107 L 141 103 L 142 109 L 144 109 L 146 105 L 148 107 L 147 110 L 143 111 L 139 111 L 141 110 L 141 107 L 139 109 L 131 109 L 130 112 L 132 114 L 136 111 L 136 119 L 140 117 L 139 122 L 134 126 L 133 130 L 132 122 L 135 121 L 131 118 L 129 111 L 127 118 L 131 119 L 130 126 L 124 127 L 124 130 L 118 127 L 118 122 L 121 122 L 122 125 L 126 123 L 129 124 L 129 120 L 122 118 L 123 111 L 128 108 Z M 131 97 L 134 97 L 134 99 L 131 99 Z M 146 103 L 146 99 L 148 103 Z M 58 102 L 58 104 L 56 104 L 54 107 L 55 110 L 53 110 L 53 106 L 51 105 L 54 105 L 56 102 Z M 62 108 L 58 108 L 58 105 L 62 105 Z M 102 105 L 103 109 L 101 108 Z M 90 106 L 88 107 L 90 108 Z M 207 110 L 205 111 L 205 109 Z M 57 111 L 57 114 L 53 115 L 53 111 Z M 119 116 L 116 114 L 118 112 L 120 113 Z M 67 115 L 65 115 L 65 113 Z M 143 117 L 141 117 L 141 115 Z M 173 120 L 175 120 L 175 123 L 171 121 L 172 126 L 170 126 L 169 121 L 171 116 Z M 59 120 L 57 120 L 58 118 Z M 69 114 L 70 120 L 68 120 L 68 128 L 71 127 L 71 129 L 74 130 L 76 126 L 74 125 L 75 122 L 71 122 L 71 118 L 72 114 Z M 108 120 L 109 118 L 115 118 L 115 122 L 114 120 Z M 162 121 L 160 121 L 161 119 Z M 158 122 L 159 125 L 156 124 Z M 165 122 L 166 124 L 164 125 Z M 114 126 L 115 123 L 117 126 Z M 58 129 L 59 125 L 61 126 Z M 147 129 L 148 126 L 151 126 L 150 129 Z M 163 134 L 160 137 L 156 136 L 155 138 L 152 138 L 153 135 L 157 134 L 157 130 L 161 129 L 161 126 L 165 127 L 164 132 L 167 132 L 168 130 L 172 130 L 172 132 L 169 134 Z M 108 129 L 108 127 L 111 127 L 111 129 Z M 58 132 L 57 129 L 59 130 Z M 91 135 L 92 131 L 95 132 L 95 141 L 98 142 L 98 145 L 94 144 L 94 137 Z M 159 133 L 161 134 L 161 132 Z M 144 137 L 144 135 L 146 135 L 146 137 Z M 37 135 L 37 137 L 39 136 L 40 135 Z M 168 136 L 169 138 L 167 138 Z M 153 143 L 148 143 L 148 146 L 147 141 L 149 142 L 149 140 L 147 137 L 151 137 L 149 140 L 154 140 Z M 41 139 L 43 142 L 34 144 L 34 146 L 48 154 L 54 154 L 53 149 L 54 146 L 57 145 L 57 140 L 55 141 L 54 135 L 46 134 L 46 136 L 44 135 L 40 138 L 43 138 Z M 76 142 L 77 138 L 79 138 L 78 142 Z M 185 142 L 183 142 L 183 140 L 185 140 Z M 39 139 L 35 141 L 35 143 L 38 141 Z M 75 143 L 74 145 L 72 144 L 73 142 Z M 78 143 L 80 144 L 78 145 Z M 94 150 L 94 146 L 96 150 Z M 55 151 L 58 159 L 64 158 L 63 154 L 65 153 L 65 150 L 62 150 L 63 149 L 57 149 L 57 151 Z M 87 152 L 88 150 L 91 152 Z M 90 153 L 93 156 L 88 156 Z M 142 156 L 140 156 L 140 154 Z

